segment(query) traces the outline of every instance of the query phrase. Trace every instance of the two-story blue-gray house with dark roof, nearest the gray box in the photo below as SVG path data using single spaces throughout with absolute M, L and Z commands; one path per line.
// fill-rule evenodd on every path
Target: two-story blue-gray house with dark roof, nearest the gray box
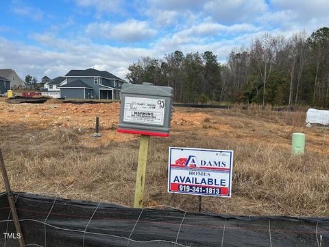
M 123 80 L 108 71 L 71 70 L 60 84 L 65 99 L 119 99 Z

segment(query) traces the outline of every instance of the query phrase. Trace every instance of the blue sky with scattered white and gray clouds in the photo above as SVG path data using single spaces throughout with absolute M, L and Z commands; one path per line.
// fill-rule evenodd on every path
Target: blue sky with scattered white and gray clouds
M 328 0 L 0 0 L 0 68 L 24 80 L 70 69 L 125 78 L 141 56 L 233 47 L 264 32 L 290 36 L 329 25 Z

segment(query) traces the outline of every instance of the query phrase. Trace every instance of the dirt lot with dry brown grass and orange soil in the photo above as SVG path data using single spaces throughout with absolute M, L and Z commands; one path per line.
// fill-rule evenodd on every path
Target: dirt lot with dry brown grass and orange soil
M 13 189 L 132 206 L 138 136 L 116 131 L 119 107 L 0 101 L 0 147 Z M 96 116 L 99 139 L 90 137 Z M 204 211 L 328 216 L 329 130 L 304 127 L 305 116 L 175 108 L 170 137 L 151 137 L 145 207 L 197 209 L 196 196 L 167 193 L 168 147 L 184 146 L 234 150 L 232 198 L 204 197 Z M 293 132 L 306 133 L 305 156 L 291 156 Z

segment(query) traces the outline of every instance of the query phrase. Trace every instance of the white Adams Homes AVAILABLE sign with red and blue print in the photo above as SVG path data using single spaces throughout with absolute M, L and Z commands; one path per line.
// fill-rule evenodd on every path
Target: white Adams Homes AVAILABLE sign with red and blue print
M 232 150 L 169 148 L 168 192 L 231 197 Z

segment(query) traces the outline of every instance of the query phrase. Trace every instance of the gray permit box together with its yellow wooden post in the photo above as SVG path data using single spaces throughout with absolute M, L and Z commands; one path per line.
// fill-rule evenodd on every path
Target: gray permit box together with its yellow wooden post
M 149 136 L 168 137 L 173 89 L 151 83 L 123 84 L 118 132 L 141 134 L 134 207 L 143 208 Z

